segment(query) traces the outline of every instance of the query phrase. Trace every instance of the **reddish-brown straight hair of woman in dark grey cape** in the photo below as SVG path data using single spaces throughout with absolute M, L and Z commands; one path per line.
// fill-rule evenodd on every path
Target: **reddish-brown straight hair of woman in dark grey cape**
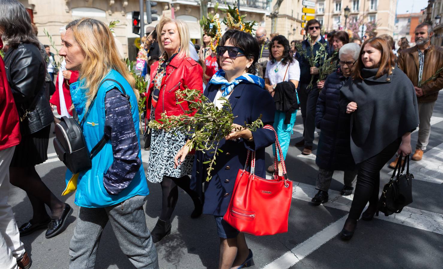
M 353 79 L 363 80 L 361 76 L 361 69 L 365 68 L 363 61 L 361 60 L 361 55 L 363 54 L 363 49 L 365 45 L 369 44 L 371 47 L 378 49 L 381 53 L 380 62 L 377 64 L 375 68 L 378 68 L 377 74 L 375 75 L 377 78 L 391 72 L 392 67 L 395 66 L 395 56 L 392 53 L 392 49 L 390 48 L 388 42 L 386 42 L 383 38 L 371 38 L 365 41 L 363 45 L 361 45 L 360 53 L 358 54 L 357 64 L 354 66 L 354 74 Z

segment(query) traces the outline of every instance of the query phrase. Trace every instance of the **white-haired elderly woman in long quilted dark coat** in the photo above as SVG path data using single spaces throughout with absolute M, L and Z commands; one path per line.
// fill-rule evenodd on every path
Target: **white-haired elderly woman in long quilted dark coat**
M 315 189 L 319 192 L 312 198 L 316 205 L 328 201 L 328 190 L 334 170 L 345 171 L 345 186 L 342 195 L 352 193 L 353 182 L 357 176 L 350 148 L 350 115 L 340 110 L 340 88 L 351 76 L 351 69 L 357 61 L 360 46 L 355 43 L 343 45 L 339 52 L 340 67 L 330 74 L 317 101 L 315 127 L 321 130 L 317 158 L 319 167 Z

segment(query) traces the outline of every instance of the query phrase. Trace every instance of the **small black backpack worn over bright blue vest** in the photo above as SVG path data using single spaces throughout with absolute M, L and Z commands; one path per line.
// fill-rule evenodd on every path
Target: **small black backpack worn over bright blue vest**
M 129 101 L 129 95 L 124 91 L 123 86 L 116 80 L 113 81 L 120 86 L 126 99 Z M 106 80 L 103 80 L 103 84 Z M 98 86 L 100 88 L 101 84 Z M 93 102 L 95 101 L 95 97 Z M 91 102 L 92 103 L 92 102 Z M 77 174 L 83 170 L 92 167 L 91 159 L 105 146 L 108 138 L 103 135 L 100 141 L 89 152 L 86 146 L 85 137 L 83 136 L 83 124 L 88 117 L 89 112 L 83 117 L 82 122 L 78 122 L 74 118 L 63 116 L 61 121 L 55 125 L 54 148 L 60 159 L 68 169 Z

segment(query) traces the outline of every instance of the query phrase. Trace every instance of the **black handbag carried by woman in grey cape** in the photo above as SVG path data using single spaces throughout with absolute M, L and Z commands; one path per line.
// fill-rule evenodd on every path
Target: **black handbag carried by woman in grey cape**
M 385 216 L 400 213 L 405 206 L 412 203 L 412 179 L 414 175 L 409 173 L 409 155 L 404 158 L 403 166 L 400 161 L 402 157 L 403 155 L 400 154 L 391 180 L 383 188 L 383 193 L 381 193 L 378 201 L 378 210 L 385 213 Z M 405 166 L 407 166 L 406 174 L 403 174 Z

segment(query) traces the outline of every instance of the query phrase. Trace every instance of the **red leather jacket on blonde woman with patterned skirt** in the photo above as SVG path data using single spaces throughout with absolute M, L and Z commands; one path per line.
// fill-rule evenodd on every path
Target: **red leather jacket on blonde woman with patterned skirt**
M 151 84 L 148 89 L 148 96 L 151 96 L 154 91 L 154 78 L 157 73 L 159 62 L 155 62 L 151 65 Z M 162 84 L 159 93 L 159 100 L 155 107 L 155 120 L 161 118 L 161 114 L 166 112 L 167 115 L 183 115 L 185 111 L 189 110 L 188 103 L 183 102 L 176 104 L 179 101 L 175 97 L 175 92 L 184 90 L 185 87 L 190 89 L 196 89 L 203 93 L 203 68 L 190 57 L 183 55 L 176 55 L 174 59 L 166 67 L 166 80 Z M 151 100 L 148 100 L 148 113 L 151 109 Z M 194 115 L 195 111 L 190 116 Z

